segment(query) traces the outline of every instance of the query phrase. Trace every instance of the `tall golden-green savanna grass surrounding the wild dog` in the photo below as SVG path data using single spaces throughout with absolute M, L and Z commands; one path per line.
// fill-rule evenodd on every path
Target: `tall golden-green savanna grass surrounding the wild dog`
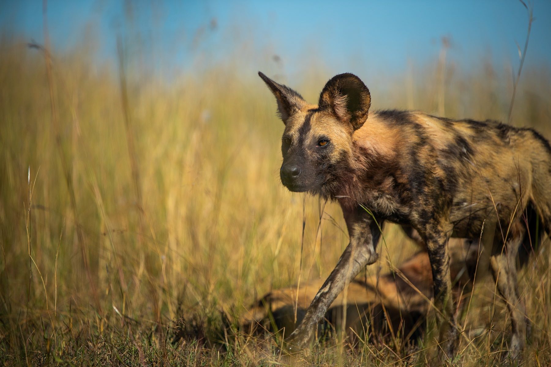
M 327 276 L 348 235 L 337 205 L 279 183 L 283 124 L 256 68 L 234 59 L 154 78 L 124 50 L 111 67 L 86 49 L 47 62 L 41 45 L 10 38 L 0 52 L 1 363 L 287 363 L 235 327 L 224 333 L 222 319 L 270 289 Z M 372 108 L 506 121 L 510 67 L 481 57 L 466 71 L 443 55 L 364 79 Z M 332 76 L 310 64 L 294 81 L 271 62 L 263 72 L 312 102 Z M 549 68 L 523 70 L 511 123 L 551 138 Z M 366 271 L 415 251 L 396 227 L 385 240 Z M 549 260 L 547 243 L 520 275 L 527 366 L 551 364 Z M 460 318 L 479 331 L 461 339 L 458 365 L 502 363 L 507 316 L 493 290 L 481 281 Z M 423 365 L 417 352 L 433 341 L 349 348 L 333 338 L 291 362 Z

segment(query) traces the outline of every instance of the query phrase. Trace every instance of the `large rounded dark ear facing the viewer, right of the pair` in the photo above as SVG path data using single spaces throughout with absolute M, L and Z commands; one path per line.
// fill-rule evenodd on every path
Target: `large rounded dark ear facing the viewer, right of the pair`
M 329 79 L 320 95 L 320 109 L 326 109 L 354 130 L 361 128 L 368 118 L 371 95 L 358 76 L 344 73 Z

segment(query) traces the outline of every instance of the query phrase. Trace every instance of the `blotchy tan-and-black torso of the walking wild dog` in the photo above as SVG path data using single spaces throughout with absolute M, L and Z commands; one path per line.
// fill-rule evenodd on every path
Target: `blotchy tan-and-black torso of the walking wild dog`
M 495 212 L 507 225 L 518 204 L 533 199 L 532 172 L 551 167 L 549 144 L 533 129 L 418 111 L 372 113 L 353 142 L 357 154 L 377 162 L 360 180 L 368 206 L 402 222 L 411 215 L 430 216 L 430 207 L 418 213 L 411 209 L 445 193 L 457 237 L 479 234 Z

